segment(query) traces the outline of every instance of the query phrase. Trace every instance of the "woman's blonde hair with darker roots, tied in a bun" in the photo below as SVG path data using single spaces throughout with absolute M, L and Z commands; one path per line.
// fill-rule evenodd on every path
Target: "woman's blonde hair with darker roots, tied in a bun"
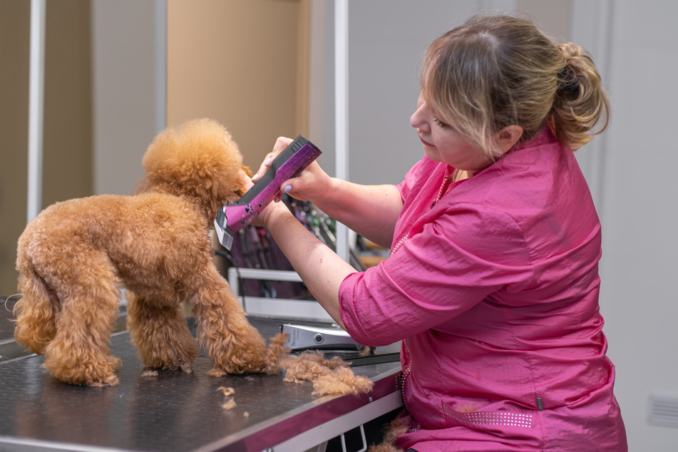
M 576 150 L 610 121 L 592 58 L 512 16 L 473 16 L 433 41 L 421 93 L 438 119 L 493 158 L 493 136 L 508 125 L 523 128 L 520 143 L 546 123 L 560 143 Z

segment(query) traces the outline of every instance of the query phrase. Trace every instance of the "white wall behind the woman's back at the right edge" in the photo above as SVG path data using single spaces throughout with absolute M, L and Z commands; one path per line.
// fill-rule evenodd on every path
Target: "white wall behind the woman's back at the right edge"
M 678 428 L 647 417 L 651 394 L 678 401 L 678 3 L 575 5 L 580 28 L 573 31 L 592 40 L 612 101 L 610 130 L 581 161 L 602 222 L 600 308 L 617 366 L 615 394 L 630 451 L 675 452 Z

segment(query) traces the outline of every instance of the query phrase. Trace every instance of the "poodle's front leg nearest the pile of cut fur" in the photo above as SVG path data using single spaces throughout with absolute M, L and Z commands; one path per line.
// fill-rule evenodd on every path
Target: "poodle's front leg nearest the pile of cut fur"
M 192 285 L 190 304 L 200 344 L 214 361 L 213 375 L 258 373 L 266 368 L 266 342 L 247 322 L 230 286 L 213 266 Z M 189 288 L 190 289 L 190 288 Z

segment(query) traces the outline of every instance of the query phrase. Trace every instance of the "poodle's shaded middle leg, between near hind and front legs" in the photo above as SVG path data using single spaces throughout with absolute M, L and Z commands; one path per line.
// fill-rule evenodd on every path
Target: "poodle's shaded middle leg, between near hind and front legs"
M 179 307 L 141 298 L 131 291 L 127 300 L 127 328 L 143 364 L 190 372 L 200 349 Z

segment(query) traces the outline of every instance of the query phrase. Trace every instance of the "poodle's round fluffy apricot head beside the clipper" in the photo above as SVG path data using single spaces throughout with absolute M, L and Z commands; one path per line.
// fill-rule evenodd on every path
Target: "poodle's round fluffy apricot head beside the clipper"
M 230 133 L 215 120 L 191 120 L 160 132 L 143 156 L 145 179 L 138 192 L 190 197 L 207 220 L 245 194 L 242 155 Z

